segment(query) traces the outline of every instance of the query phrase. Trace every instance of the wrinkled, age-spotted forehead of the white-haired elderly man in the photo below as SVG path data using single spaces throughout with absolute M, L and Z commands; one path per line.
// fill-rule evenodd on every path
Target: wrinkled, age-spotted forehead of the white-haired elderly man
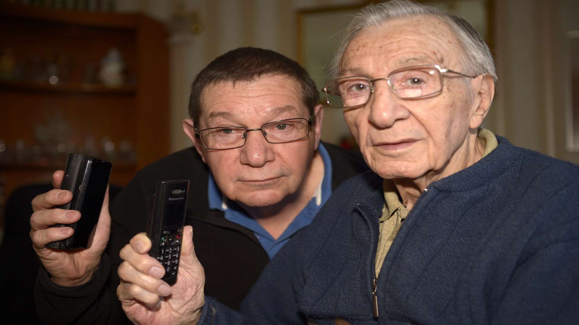
M 420 64 L 459 69 L 462 50 L 455 34 L 438 17 L 393 19 L 364 28 L 354 36 L 340 62 L 340 75 L 367 71 L 375 65 L 389 71 Z

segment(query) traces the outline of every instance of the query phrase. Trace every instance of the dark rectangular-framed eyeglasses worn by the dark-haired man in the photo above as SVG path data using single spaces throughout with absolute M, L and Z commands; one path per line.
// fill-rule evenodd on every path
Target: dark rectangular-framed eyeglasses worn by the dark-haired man
M 195 138 L 201 139 L 201 144 L 206 149 L 223 150 L 235 149 L 245 145 L 247 132 L 261 130 L 266 141 L 269 143 L 285 143 L 307 138 L 312 125 L 312 115 L 309 119 L 298 117 L 296 119 L 278 120 L 263 124 L 260 128 L 244 128 L 237 126 L 206 128 L 201 131 L 195 130 Z

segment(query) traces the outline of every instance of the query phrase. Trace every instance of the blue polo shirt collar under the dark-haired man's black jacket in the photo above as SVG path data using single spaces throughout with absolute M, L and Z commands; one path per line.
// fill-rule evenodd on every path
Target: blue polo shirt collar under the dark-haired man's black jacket
M 236 202 L 230 201 L 228 198 L 224 197 L 223 194 L 221 194 L 219 187 L 217 187 L 217 183 L 215 183 L 215 179 L 211 172 L 209 172 L 209 182 L 207 184 L 209 208 L 223 211 L 225 213 L 225 219 L 253 231 L 255 237 L 258 239 L 259 243 L 261 243 L 261 246 L 265 249 L 269 258 L 272 259 L 285 243 L 290 240 L 292 235 L 298 232 L 301 228 L 312 223 L 318 210 L 320 210 L 324 203 L 328 201 L 329 196 L 332 194 L 332 161 L 329 158 L 328 151 L 321 142 L 320 145 L 318 145 L 318 152 L 324 161 L 324 177 L 312 200 L 308 202 L 302 212 L 295 217 L 294 221 L 290 223 L 279 238 L 273 239 L 272 235 L 263 229 L 255 219 L 247 215 L 245 210 L 241 209 Z

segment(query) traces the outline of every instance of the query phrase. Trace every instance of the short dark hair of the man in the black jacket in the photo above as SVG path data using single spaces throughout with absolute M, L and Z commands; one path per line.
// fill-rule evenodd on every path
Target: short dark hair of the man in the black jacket
M 189 116 L 193 123 L 199 123 L 202 112 L 201 92 L 204 88 L 220 82 L 251 82 L 263 75 L 294 78 L 302 87 L 303 104 L 310 110 L 310 114 L 313 114 L 313 109 L 320 100 L 320 93 L 306 69 L 276 51 L 240 47 L 217 57 L 195 77 L 189 96 Z

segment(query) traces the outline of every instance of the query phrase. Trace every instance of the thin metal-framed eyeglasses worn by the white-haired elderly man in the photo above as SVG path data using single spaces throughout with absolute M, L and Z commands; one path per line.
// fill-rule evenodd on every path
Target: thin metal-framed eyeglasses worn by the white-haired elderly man
M 378 80 L 387 80 L 390 90 L 401 99 L 419 99 L 437 94 L 444 87 L 443 73 L 455 73 L 463 77 L 475 78 L 464 73 L 442 69 L 437 64 L 414 65 L 396 69 L 387 77 L 369 79 L 353 76 L 331 80 L 322 90 L 327 102 L 336 108 L 354 108 L 364 106 L 374 93 L 374 84 Z

